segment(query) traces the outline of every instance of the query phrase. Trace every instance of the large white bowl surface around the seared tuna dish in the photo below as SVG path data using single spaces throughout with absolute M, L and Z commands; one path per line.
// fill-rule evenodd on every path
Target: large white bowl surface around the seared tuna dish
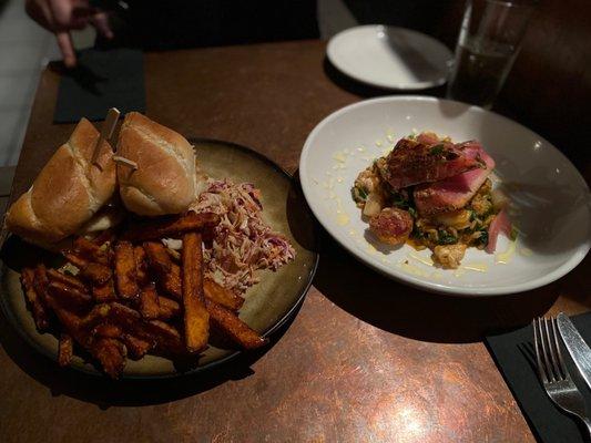
M 469 248 L 458 270 L 429 265 L 430 251 L 387 248 L 368 235 L 350 196 L 357 174 L 412 132 L 476 138 L 497 162 L 499 186 L 521 234 L 497 253 Z M 591 246 L 591 195 L 577 168 L 527 127 L 477 106 L 421 96 L 374 99 L 344 107 L 309 134 L 299 159 L 306 199 L 328 233 L 376 270 L 436 292 L 501 295 L 534 289 L 574 268 Z

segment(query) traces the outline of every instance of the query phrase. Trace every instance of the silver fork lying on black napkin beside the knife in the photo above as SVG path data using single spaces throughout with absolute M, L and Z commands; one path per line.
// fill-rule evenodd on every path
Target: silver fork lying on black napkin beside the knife
M 583 395 L 572 381 L 562 358 L 556 318 L 550 318 L 550 321 L 546 318 L 533 320 L 533 342 L 538 373 L 548 396 L 557 406 L 581 420 L 591 436 L 591 421 L 585 413 Z

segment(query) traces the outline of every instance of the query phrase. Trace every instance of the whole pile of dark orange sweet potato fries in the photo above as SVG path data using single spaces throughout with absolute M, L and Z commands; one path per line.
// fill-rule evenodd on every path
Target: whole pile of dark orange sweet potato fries
M 77 346 L 119 378 L 128 357 L 198 356 L 210 329 L 244 349 L 265 344 L 237 317 L 244 299 L 204 277 L 203 237 L 217 223 L 215 214 L 188 213 L 129 224 L 119 235 L 77 238 L 60 269 L 22 269 L 37 328 L 59 331 L 60 365 Z M 181 254 L 164 238 L 181 239 Z

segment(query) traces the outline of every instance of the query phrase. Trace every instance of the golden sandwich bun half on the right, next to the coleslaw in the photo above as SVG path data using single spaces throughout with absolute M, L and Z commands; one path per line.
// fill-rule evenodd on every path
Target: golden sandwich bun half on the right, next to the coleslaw
M 132 213 L 179 214 L 195 199 L 195 152 L 176 132 L 131 112 L 121 127 L 118 155 L 137 164 L 137 169 L 118 165 L 121 199 Z

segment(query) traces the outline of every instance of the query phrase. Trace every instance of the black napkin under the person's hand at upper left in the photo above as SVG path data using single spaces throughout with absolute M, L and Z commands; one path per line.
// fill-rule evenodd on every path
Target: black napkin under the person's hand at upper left
M 122 114 L 145 111 L 142 51 L 88 49 L 78 54 L 78 66 L 60 81 L 54 123 L 81 117 L 104 120 L 110 107 Z

